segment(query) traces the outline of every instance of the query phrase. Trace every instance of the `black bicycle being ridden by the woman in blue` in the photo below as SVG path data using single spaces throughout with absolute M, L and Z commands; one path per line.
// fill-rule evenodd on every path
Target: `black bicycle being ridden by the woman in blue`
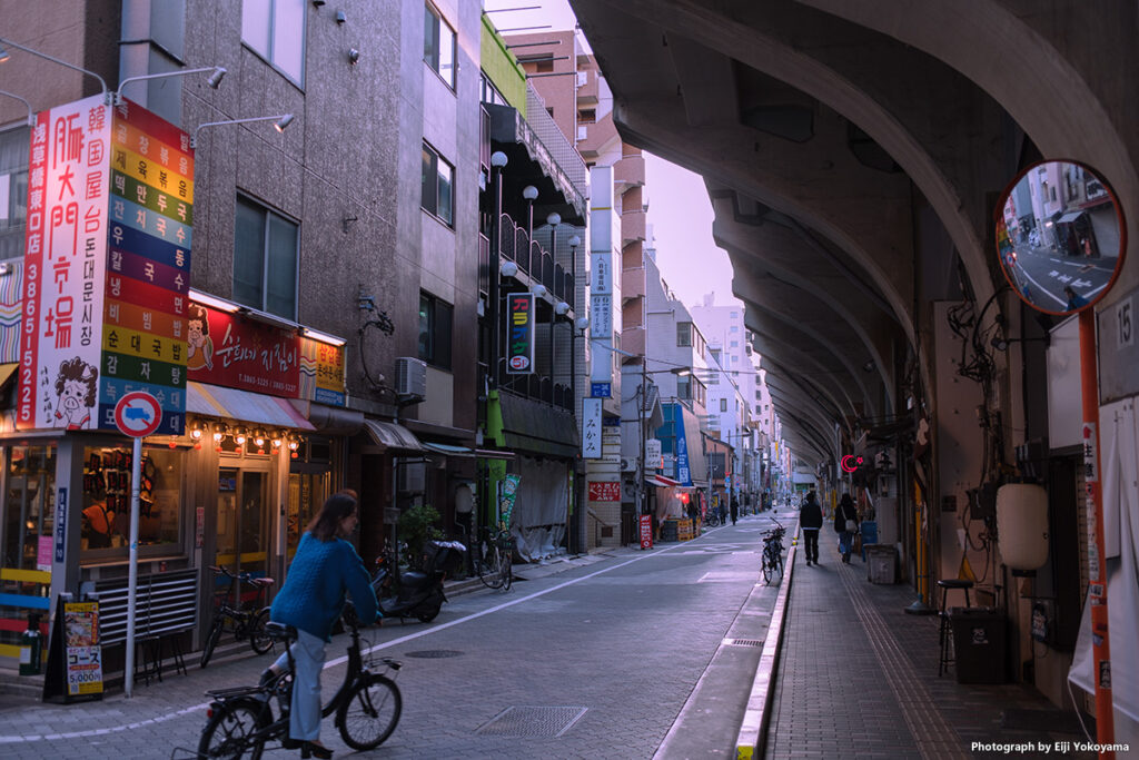
M 361 652 L 359 620 L 352 611 L 353 607 L 347 607 L 342 618 L 352 637 L 344 683 L 320 714 L 323 718 L 336 714 L 341 738 L 353 750 L 371 750 L 383 744 L 400 721 L 403 697 L 394 679 L 402 663 L 370 656 L 370 646 L 368 653 Z M 312 747 L 308 743 L 294 742 L 288 736 L 294 663 L 287 647 L 296 640 L 296 629 L 270 622 L 265 630 L 272 640 L 285 644 L 289 669 L 261 686 L 206 692 L 211 702 L 198 742 L 198 758 L 248 755 L 257 760 L 267 749 L 277 749 L 267 747 L 273 742 L 280 742 L 281 749 L 300 749 L 302 758 L 310 757 Z

